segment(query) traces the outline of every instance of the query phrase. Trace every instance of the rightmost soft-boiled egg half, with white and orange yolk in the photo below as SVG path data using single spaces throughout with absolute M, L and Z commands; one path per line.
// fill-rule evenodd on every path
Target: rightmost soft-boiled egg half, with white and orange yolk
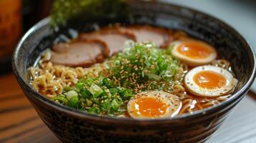
M 191 94 L 199 97 L 218 97 L 228 94 L 237 84 L 232 74 L 217 66 L 197 66 L 184 78 L 184 85 Z

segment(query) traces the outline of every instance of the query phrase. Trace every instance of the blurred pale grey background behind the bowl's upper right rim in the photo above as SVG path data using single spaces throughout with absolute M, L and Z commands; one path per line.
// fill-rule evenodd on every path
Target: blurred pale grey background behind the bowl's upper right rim
M 203 11 L 237 29 L 256 51 L 255 0 L 161 0 Z M 252 89 L 256 93 L 256 82 Z

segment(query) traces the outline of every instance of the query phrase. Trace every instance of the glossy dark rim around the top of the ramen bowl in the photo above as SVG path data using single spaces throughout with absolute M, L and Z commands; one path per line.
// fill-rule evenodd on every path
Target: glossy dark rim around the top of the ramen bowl
M 140 3 L 144 3 L 144 2 L 140 2 Z M 233 33 L 236 34 L 236 36 L 241 40 L 241 42 L 244 43 L 245 46 L 247 46 L 248 52 L 252 56 L 252 64 L 254 66 L 252 67 L 253 69 L 252 69 L 252 73 L 250 74 L 250 79 L 247 80 L 245 85 L 243 87 L 241 87 L 241 89 L 238 90 L 235 94 L 233 94 L 232 97 L 230 97 L 229 99 L 227 99 L 224 102 L 221 102 L 220 104 L 217 104 L 216 106 L 207 107 L 205 109 L 198 110 L 198 111 L 193 112 L 193 113 L 181 114 L 179 116 L 168 117 L 168 118 L 133 119 L 133 118 L 118 118 L 118 117 L 100 116 L 98 114 L 90 114 L 90 113 L 86 113 L 86 112 L 80 112 L 77 109 L 73 109 L 73 108 L 67 107 L 67 106 L 62 106 L 60 104 L 57 104 L 57 103 L 47 99 L 44 96 L 42 96 L 42 94 L 39 94 L 39 92 L 36 92 L 31 87 L 31 85 L 29 85 L 29 83 L 25 81 L 25 79 L 24 79 L 25 77 L 22 76 L 22 74 L 19 72 L 19 69 L 17 69 L 17 65 L 16 65 L 16 63 L 17 63 L 17 58 L 16 57 L 19 55 L 19 51 L 20 51 L 20 49 L 22 49 L 24 41 L 27 41 L 29 36 L 34 34 L 35 31 L 41 29 L 44 26 L 47 26 L 47 24 L 49 24 L 49 17 L 47 17 L 45 19 L 42 19 L 37 24 L 32 26 L 32 28 L 29 29 L 29 31 L 27 31 L 26 34 L 24 34 L 24 36 L 22 36 L 22 39 L 20 39 L 19 43 L 17 44 L 16 48 L 14 49 L 14 53 L 13 53 L 13 56 L 12 56 L 12 69 L 14 71 L 14 75 L 16 77 L 16 80 L 19 82 L 20 86 L 23 89 L 29 90 L 29 92 L 32 92 L 31 94 L 29 94 L 27 96 L 34 96 L 40 102 L 44 102 L 44 104 L 47 104 L 47 106 L 52 107 L 53 109 L 57 109 L 60 112 L 65 112 L 67 114 L 78 117 L 80 119 L 91 119 L 91 120 L 95 120 L 95 121 L 99 121 L 99 122 L 115 122 L 115 123 L 120 123 L 120 124 L 121 123 L 124 123 L 124 124 L 141 124 L 141 123 L 143 123 L 143 124 L 155 124 L 155 123 L 164 123 L 164 122 L 174 122 L 174 121 L 178 121 L 178 120 L 182 120 L 182 119 L 193 119 L 194 117 L 199 117 L 199 116 L 202 116 L 204 114 L 210 114 L 210 113 L 216 111 L 219 108 L 227 107 L 228 104 L 231 104 L 232 102 L 236 102 L 244 94 L 246 94 L 247 91 L 250 89 L 250 86 L 252 85 L 252 82 L 254 81 L 255 76 L 256 76 L 256 74 L 255 74 L 255 72 L 256 72 L 255 54 L 254 54 L 254 51 L 252 50 L 252 46 L 249 44 L 249 42 L 247 40 L 245 40 L 245 38 L 236 29 L 234 29 L 232 26 L 229 26 L 229 24 L 226 24 L 224 21 L 221 21 L 221 20 L 217 19 L 216 17 L 214 17 L 210 14 L 207 14 L 205 12 L 198 11 L 198 10 L 195 10 L 195 9 L 191 9 L 191 8 L 186 7 L 186 6 L 181 6 L 181 5 L 176 5 L 176 4 L 167 4 L 167 3 L 163 3 L 163 2 L 157 2 L 157 3 L 162 4 L 162 5 L 169 5 L 169 6 L 172 6 L 172 7 L 179 8 L 179 9 L 187 9 L 189 11 L 192 11 L 192 12 L 196 13 L 196 14 L 202 14 L 203 16 L 207 16 L 210 19 L 214 19 L 214 21 L 217 21 L 217 23 L 221 24 L 222 26 L 225 26 L 229 31 L 233 31 Z

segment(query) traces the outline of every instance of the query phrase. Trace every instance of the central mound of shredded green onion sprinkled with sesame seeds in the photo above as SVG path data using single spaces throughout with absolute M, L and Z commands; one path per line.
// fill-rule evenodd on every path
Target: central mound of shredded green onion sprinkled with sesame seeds
M 136 44 L 110 59 L 110 79 L 121 87 L 145 90 L 153 81 L 172 82 L 179 61 L 155 44 Z

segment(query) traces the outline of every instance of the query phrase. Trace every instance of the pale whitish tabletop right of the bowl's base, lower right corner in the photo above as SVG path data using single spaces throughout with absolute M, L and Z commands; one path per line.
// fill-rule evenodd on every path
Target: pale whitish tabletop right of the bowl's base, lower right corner
M 253 95 L 254 96 L 254 95 Z M 247 95 L 207 143 L 255 143 L 256 100 Z

